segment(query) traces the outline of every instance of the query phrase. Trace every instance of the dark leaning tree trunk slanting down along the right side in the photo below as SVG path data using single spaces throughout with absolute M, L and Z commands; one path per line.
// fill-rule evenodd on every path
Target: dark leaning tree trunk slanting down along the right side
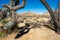
M 56 14 L 56 13 L 54 13 L 53 11 L 52 11 L 52 9 L 50 8 L 50 6 L 48 5 L 48 3 L 45 1 L 45 0 L 40 0 L 43 4 L 44 4 L 44 6 L 47 8 L 47 10 L 49 11 L 49 14 L 50 14 L 50 16 L 52 17 L 52 20 L 53 20 L 53 24 L 54 24 L 54 27 L 55 27 L 55 31 L 56 32 L 60 32 L 60 22 L 58 21 L 58 19 L 57 18 L 55 18 L 55 15 L 54 14 Z

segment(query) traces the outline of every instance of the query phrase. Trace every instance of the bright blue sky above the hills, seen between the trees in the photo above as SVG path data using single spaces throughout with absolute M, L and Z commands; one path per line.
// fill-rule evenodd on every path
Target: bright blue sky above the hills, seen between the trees
M 57 8 L 58 0 L 46 0 L 48 4 L 51 6 L 51 8 L 54 10 Z M 0 0 L 0 8 L 2 8 L 2 4 L 9 4 L 10 0 Z M 20 4 L 22 3 L 22 0 L 20 1 Z M 26 5 L 24 8 L 19 9 L 17 13 L 22 12 L 34 12 L 38 14 L 42 14 L 44 12 L 47 12 L 47 9 L 44 7 L 44 5 L 39 0 L 26 0 Z

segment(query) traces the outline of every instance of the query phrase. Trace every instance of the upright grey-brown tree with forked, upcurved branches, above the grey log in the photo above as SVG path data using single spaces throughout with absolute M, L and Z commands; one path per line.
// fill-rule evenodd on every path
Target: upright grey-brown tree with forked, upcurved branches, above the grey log
M 3 5 L 5 7 L 7 7 L 8 9 L 12 10 L 12 20 L 16 19 L 16 13 L 15 13 L 15 11 L 18 10 L 18 9 L 23 8 L 25 6 L 25 4 L 26 4 L 26 0 L 23 0 L 22 5 L 18 5 L 17 2 L 19 2 L 19 0 L 16 0 L 16 1 L 11 0 L 10 1 L 10 5 Z

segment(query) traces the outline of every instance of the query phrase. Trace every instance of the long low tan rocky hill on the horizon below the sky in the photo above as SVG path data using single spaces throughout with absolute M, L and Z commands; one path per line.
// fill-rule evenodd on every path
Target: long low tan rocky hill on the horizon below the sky
M 37 14 L 34 12 L 23 12 L 21 14 L 18 14 L 18 16 L 35 16 L 35 17 L 47 17 L 50 18 L 49 12 L 45 12 L 44 14 Z

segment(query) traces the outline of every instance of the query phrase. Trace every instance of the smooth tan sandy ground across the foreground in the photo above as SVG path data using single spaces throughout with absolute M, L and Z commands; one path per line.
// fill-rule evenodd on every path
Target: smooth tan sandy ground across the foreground
M 12 33 L 8 37 L 0 38 L 0 40 L 14 40 L 16 34 Z M 45 26 L 41 26 L 41 28 L 31 29 L 27 34 L 17 40 L 60 40 L 60 35 Z

